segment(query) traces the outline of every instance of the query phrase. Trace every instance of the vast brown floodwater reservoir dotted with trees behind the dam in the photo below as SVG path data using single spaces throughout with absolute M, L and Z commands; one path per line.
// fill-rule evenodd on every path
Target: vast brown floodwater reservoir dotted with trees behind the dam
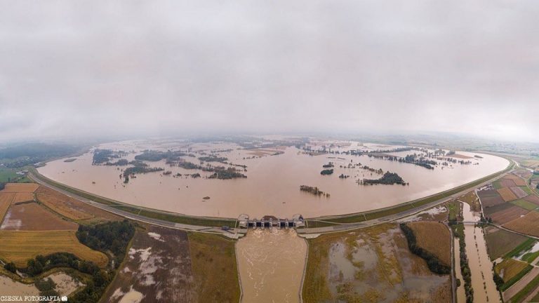
M 319 144 L 328 144 L 321 142 Z M 345 144 L 346 145 L 346 144 Z M 218 156 L 226 156 L 230 162 L 246 165 L 245 179 L 216 180 L 205 179 L 204 173 L 197 170 L 185 170 L 168 167 L 164 161 L 149 162 L 151 166 L 171 170 L 172 175 L 181 173 L 184 177 L 172 177 L 161 173 L 136 175 L 128 184 L 119 177 L 121 169 L 117 166 L 92 166 L 92 154 L 76 157 L 76 161 L 65 162 L 65 159 L 51 161 L 39 168 L 39 173 L 52 180 L 67 184 L 84 191 L 113 198 L 137 206 L 168 210 L 187 215 L 206 215 L 216 217 L 237 217 L 245 213 L 253 217 L 275 215 L 290 218 L 295 214 L 306 217 L 321 215 L 340 215 L 373 210 L 398 203 L 422 198 L 439 191 L 451 189 L 491 173 L 503 170 L 508 161 L 486 154 L 482 159 L 465 159 L 478 165 L 453 164 L 453 167 L 428 170 L 409 163 L 399 163 L 368 156 L 351 156 L 345 154 L 321 154 L 309 156 L 300 149 L 287 147 L 280 149 L 259 149 L 250 151 L 240 149 L 233 143 L 188 144 L 186 142 L 146 142 L 127 141 L 102 144 L 100 148 L 124 150 L 133 153 L 126 159 L 131 160 L 136 153 L 144 149 L 186 149 L 193 152 L 209 152 L 211 150 L 232 149 L 218 152 Z M 350 149 L 383 148 L 374 144 L 349 142 L 348 146 L 335 147 L 340 152 Z M 272 152 L 284 152 L 272 155 Z M 399 156 L 412 152 L 393 153 Z M 470 154 L 458 152 L 467 156 Z M 197 154 L 200 156 L 200 154 Z M 198 163 L 196 158 L 186 156 L 187 161 Z M 322 166 L 328 162 L 335 164 L 335 173 L 324 176 L 320 174 Z M 398 173 L 408 186 L 357 184 L 363 178 L 377 179 L 380 175 L 370 173 L 361 168 L 340 168 L 349 163 L 361 163 L 364 166 Z M 201 173 L 201 178 L 185 177 L 185 174 Z M 350 175 L 341 179 L 340 174 Z M 314 196 L 300 191 L 300 185 L 316 186 L 321 191 L 331 194 L 330 197 Z M 209 196 L 204 200 L 203 197 Z

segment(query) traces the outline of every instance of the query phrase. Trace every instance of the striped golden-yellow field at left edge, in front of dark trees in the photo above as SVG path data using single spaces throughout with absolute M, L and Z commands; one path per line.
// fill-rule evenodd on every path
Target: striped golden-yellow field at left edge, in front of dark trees
M 107 265 L 107 256 L 83 245 L 75 231 L 0 231 L 0 257 L 26 267 L 27 261 L 36 255 L 72 253 L 82 260 Z

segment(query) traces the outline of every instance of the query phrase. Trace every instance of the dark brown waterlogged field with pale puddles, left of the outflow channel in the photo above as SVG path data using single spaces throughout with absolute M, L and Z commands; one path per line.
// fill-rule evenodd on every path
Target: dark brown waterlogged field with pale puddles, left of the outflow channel
M 185 231 L 149 227 L 135 232 L 128 257 L 102 302 L 199 302 Z

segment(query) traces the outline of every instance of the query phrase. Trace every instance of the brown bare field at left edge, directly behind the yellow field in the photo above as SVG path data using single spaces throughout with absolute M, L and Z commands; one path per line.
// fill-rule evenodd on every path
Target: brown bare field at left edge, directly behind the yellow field
M 76 231 L 78 227 L 77 224 L 63 220 L 43 206 L 32 202 L 12 205 L 6 213 L 0 229 L 6 231 Z

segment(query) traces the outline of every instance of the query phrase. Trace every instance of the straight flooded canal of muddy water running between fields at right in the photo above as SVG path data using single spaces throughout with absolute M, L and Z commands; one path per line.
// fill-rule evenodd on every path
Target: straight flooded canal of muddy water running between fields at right
M 478 222 L 479 217 L 470 210 L 470 205 L 463 203 L 465 222 Z M 466 255 L 472 274 L 474 302 L 501 302 L 492 274 L 492 262 L 486 251 L 483 229 L 473 224 L 465 224 Z

